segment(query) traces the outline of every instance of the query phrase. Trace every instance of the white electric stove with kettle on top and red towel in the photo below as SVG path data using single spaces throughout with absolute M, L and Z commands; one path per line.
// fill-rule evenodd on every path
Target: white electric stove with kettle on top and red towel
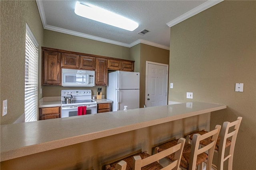
M 86 111 L 84 111 L 86 115 L 97 113 L 97 102 L 92 100 L 92 91 L 61 90 L 61 117 L 80 115 L 78 111 L 80 108 L 78 107 L 86 108 Z

